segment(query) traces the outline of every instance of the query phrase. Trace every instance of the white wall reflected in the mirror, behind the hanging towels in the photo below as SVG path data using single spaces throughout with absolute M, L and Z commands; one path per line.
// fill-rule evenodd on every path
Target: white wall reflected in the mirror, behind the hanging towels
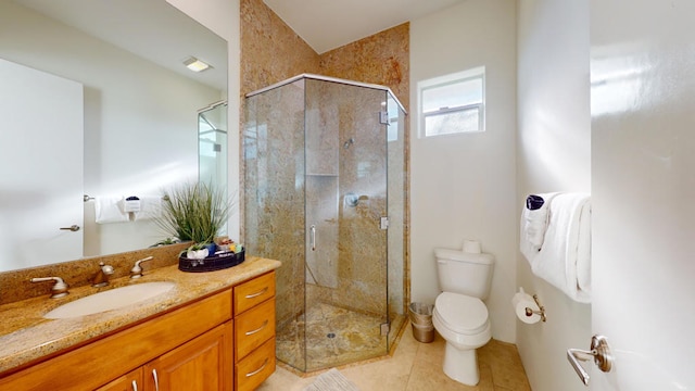
M 2 2 L 0 10 L 1 56 L 85 87 L 85 193 L 156 195 L 195 177 L 197 112 L 218 101 L 219 90 L 30 9 Z M 87 256 L 147 248 L 163 237 L 152 222 L 97 225 L 93 216 L 93 202 L 86 203 Z

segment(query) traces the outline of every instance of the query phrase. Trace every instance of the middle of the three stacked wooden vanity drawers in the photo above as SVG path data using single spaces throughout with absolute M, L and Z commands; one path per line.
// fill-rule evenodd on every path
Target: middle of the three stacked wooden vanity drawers
M 236 361 L 275 336 L 275 299 L 270 299 L 235 319 Z

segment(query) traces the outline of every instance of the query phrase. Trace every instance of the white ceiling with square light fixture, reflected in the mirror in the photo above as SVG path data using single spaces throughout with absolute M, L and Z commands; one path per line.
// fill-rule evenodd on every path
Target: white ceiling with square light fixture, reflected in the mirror
M 220 90 L 227 89 L 227 42 L 164 0 L 14 2 L 185 77 Z M 182 64 L 190 55 L 212 64 L 213 68 L 190 72 Z

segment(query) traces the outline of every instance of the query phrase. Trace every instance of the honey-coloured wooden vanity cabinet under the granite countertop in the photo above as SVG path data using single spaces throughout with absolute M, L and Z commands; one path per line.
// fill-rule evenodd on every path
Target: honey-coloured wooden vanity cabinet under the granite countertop
M 274 371 L 270 272 L 0 377 L 0 391 L 245 391 Z

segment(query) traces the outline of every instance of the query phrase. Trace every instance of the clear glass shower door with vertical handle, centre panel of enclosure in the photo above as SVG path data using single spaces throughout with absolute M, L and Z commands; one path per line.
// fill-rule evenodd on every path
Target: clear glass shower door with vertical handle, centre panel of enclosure
M 306 370 L 388 352 L 386 100 L 305 81 Z

